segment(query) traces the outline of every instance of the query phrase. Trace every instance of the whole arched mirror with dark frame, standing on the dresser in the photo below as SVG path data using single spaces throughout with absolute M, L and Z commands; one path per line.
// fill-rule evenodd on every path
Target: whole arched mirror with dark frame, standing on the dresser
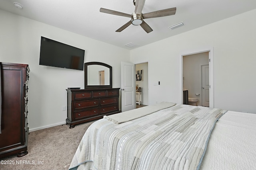
M 112 66 L 100 62 L 84 63 L 84 88 L 112 88 Z

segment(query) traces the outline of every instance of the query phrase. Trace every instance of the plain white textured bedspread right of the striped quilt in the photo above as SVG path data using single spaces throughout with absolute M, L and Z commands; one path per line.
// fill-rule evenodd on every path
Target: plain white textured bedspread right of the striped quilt
M 200 170 L 256 170 L 256 114 L 228 111 L 220 117 Z

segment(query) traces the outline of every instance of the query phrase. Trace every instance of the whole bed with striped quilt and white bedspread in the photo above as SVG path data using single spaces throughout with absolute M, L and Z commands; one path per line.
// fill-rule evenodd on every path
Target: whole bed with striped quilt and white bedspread
M 84 134 L 70 170 L 252 170 L 256 114 L 160 104 L 104 116 Z

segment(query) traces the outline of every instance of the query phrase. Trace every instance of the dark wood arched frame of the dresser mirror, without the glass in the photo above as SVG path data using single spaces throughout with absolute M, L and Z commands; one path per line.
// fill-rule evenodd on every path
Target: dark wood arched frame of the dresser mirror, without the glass
M 101 65 L 109 68 L 109 85 L 88 85 L 88 66 L 89 65 Z M 90 88 L 112 88 L 112 66 L 100 63 L 100 62 L 88 62 L 84 63 L 84 89 Z

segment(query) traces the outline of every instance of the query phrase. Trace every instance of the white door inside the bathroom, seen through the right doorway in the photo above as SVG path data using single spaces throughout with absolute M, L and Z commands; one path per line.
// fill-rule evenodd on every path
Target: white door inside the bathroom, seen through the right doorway
M 202 106 L 209 107 L 209 65 L 202 65 Z

